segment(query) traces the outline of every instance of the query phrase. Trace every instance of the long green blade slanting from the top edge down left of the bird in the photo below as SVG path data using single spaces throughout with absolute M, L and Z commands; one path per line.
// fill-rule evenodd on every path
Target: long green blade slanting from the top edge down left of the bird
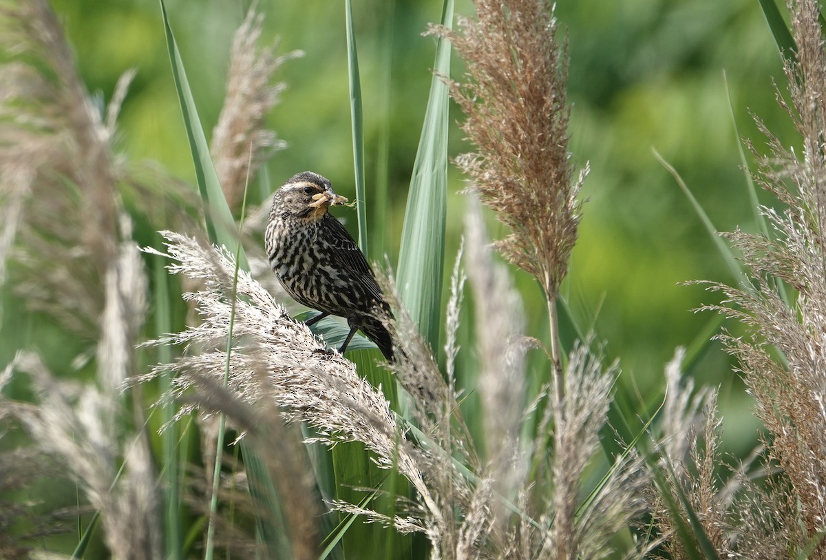
M 183 60 L 178 51 L 172 27 L 169 26 L 169 17 L 167 17 L 164 0 L 160 0 L 160 8 L 164 17 L 164 31 L 169 50 L 169 60 L 172 63 L 172 75 L 175 80 L 175 88 L 178 90 L 178 101 L 181 103 L 183 126 L 187 131 L 189 149 L 192 151 L 192 163 L 195 164 L 195 178 L 203 202 L 207 234 L 212 243 L 230 248 L 235 245 L 234 241 L 237 239 L 235 221 L 232 218 L 230 206 L 226 203 L 221 183 L 218 182 L 215 166 L 210 158 L 207 137 L 204 135 L 201 120 L 198 118 L 197 107 L 192 97 L 192 89 L 187 81 L 187 74 L 183 68 Z M 243 249 L 239 254 L 239 259 L 241 268 L 249 270 L 249 264 L 247 264 Z

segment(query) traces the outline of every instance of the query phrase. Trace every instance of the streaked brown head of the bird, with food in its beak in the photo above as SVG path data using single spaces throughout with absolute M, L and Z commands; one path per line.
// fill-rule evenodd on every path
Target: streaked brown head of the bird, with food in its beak
M 329 180 L 305 171 L 293 175 L 278 189 L 273 198 L 271 216 L 287 215 L 315 221 L 324 216 L 330 206 L 344 202 L 347 199 L 333 192 Z

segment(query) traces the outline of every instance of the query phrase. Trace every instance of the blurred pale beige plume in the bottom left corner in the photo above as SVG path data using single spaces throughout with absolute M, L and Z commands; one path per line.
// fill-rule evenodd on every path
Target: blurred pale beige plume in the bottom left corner
M 61 383 L 33 354 L 19 354 L 17 371 L 28 373 L 40 404 L 7 401 L 45 452 L 69 465 L 69 474 L 101 512 L 112 558 L 161 558 L 158 496 L 149 449 L 140 437 L 126 445 L 117 474 L 119 405 L 112 395 L 76 383 Z

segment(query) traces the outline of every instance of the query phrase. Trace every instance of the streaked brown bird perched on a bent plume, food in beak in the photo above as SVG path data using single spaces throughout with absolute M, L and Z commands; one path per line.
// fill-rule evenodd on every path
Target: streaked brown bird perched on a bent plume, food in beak
M 361 330 L 392 362 L 392 335 L 385 327 L 390 306 L 353 237 L 327 211 L 344 202 L 326 178 L 309 171 L 292 176 L 275 193 L 269 212 L 269 264 L 288 294 L 320 311 L 306 325 L 328 315 L 347 318 L 350 331 L 340 353 Z

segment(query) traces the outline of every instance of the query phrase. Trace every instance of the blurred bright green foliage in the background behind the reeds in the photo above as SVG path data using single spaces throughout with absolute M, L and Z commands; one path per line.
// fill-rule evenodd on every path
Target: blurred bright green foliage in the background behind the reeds
M 158 2 L 54 0 L 53 5 L 91 92 L 108 99 L 119 75 L 137 70 L 121 114 L 119 149 L 130 158 L 157 160 L 194 183 Z M 440 0 L 396 0 L 391 10 L 389 0 L 354 2 L 368 208 L 375 203 L 371 184 L 379 180 L 382 126 L 390 131 L 388 235 L 383 244 L 372 242 L 374 260 L 383 261 L 387 254 L 396 262 L 433 64 L 435 40 L 422 32 L 428 22 L 439 20 L 441 6 Z M 231 36 L 249 2 L 170 0 L 167 7 L 210 135 L 224 97 Z M 265 15 L 265 42 L 280 37 L 282 52 L 306 53 L 284 64 L 278 76 L 287 90 L 269 122 L 288 147 L 268 162 L 272 186 L 265 187 L 312 169 L 329 177 L 337 192 L 353 197 L 344 2 L 260 0 L 258 7 Z M 470 15 L 472 4 L 459 0 L 456 11 Z M 390 13 L 386 107 L 382 37 Z M 608 356 L 619 358 L 629 391 L 650 401 L 662 388 L 662 368 L 674 348 L 691 344 L 711 319 L 691 310 L 715 296 L 681 282 L 731 280 L 690 203 L 652 149 L 681 173 L 719 230 L 738 225 L 752 230 L 737 134 L 762 149 L 751 111 L 781 139 L 790 138 L 790 122 L 775 102 L 771 83 L 772 78 L 784 81 L 781 59 L 756 0 L 563 0 L 557 14 L 570 54 L 572 158 L 579 166 L 591 165 L 582 192 L 588 202 L 580 240 L 563 293 L 577 323 L 593 327 Z M 454 69 L 461 71 L 458 64 Z M 461 119 L 458 112 L 453 119 Z M 468 149 L 458 127 L 450 142 L 453 155 Z M 451 169 L 449 263 L 463 228 L 465 202 L 458 194 L 463 187 L 463 178 Z M 345 220 L 355 232 L 354 213 Z M 496 237 L 504 231 L 494 225 L 491 233 Z M 525 298 L 528 334 L 543 339 L 547 318 L 539 287 L 525 273 L 515 272 L 515 277 Z M 570 333 L 563 336 L 570 339 Z M 743 453 L 756 439 L 757 422 L 731 367 L 712 344 L 693 374 L 700 382 L 722 386 L 727 439 L 732 451 Z

